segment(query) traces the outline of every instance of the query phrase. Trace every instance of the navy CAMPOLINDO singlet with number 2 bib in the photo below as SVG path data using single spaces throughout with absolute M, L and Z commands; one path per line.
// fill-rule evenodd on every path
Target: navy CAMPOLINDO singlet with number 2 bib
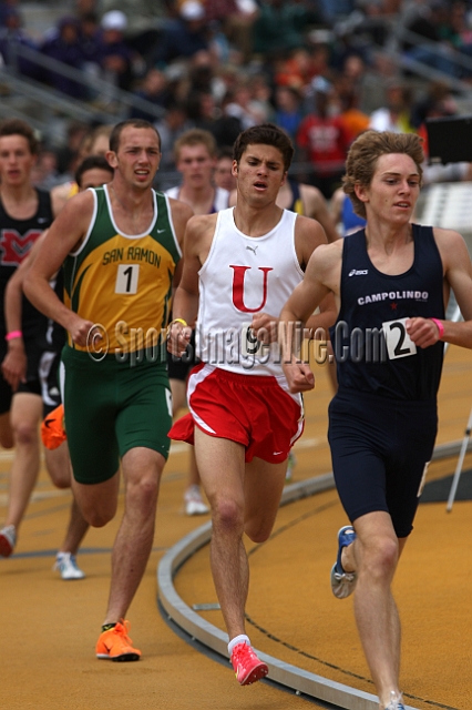
M 435 400 L 444 343 L 417 347 L 406 320 L 444 318 L 443 267 L 432 227 L 413 224 L 412 229 L 413 264 L 399 275 L 373 266 L 365 230 L 345 239 L 341 307 L 330 328 L 339 390 Z

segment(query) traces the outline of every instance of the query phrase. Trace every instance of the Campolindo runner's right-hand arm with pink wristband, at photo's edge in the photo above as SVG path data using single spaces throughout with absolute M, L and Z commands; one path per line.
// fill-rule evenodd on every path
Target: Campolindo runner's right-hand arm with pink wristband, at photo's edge
M 434 239 L 444 268 L 444 302 L 452 288 L 464 318 L 463 323 L 442 321 L 441 339 L 472 348 L 472 265 L 465 242 L 453 230 L 434 229 Z M 434 345 L 440 339 L 439 328 L 431 318 L 410 318 L 407 332 L 419 347 Z

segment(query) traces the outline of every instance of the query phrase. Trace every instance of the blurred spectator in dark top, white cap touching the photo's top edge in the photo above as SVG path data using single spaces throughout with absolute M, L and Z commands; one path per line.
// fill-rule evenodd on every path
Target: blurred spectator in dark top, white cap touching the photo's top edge
M 154 65 L 162 67 L 175 59 L 188 59 L 207 49 L 205 6 L 198 0 L 185 0 L 179 6 L 178 18 L 164 27 L 151 61 Z

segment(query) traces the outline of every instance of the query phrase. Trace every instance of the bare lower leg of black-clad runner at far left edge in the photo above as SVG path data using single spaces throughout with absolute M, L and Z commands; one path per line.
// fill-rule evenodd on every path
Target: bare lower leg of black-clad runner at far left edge
M 11 426 L 14 437 L 14 459 L 10 473 L 10 496 L 6 525 L 18 531 L 34 488 L 40 466 L 38 425 L 42 415 L 39 395 L 19 393 L 13 396 Z

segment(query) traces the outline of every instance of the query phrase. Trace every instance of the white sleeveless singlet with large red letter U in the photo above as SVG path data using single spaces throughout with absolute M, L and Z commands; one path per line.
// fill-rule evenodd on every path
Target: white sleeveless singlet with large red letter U
M 296 219 L 284 210 L 270 232 L 250 237 L 237 229 L 233 207 L 218 213 L 212 247 L 199 271 L 196 344 L 204 363 L 285 381 L 278 344 L 257 341 L 250 323 L 259 312 L 278 318 L 304 277 L 295 251 Z

